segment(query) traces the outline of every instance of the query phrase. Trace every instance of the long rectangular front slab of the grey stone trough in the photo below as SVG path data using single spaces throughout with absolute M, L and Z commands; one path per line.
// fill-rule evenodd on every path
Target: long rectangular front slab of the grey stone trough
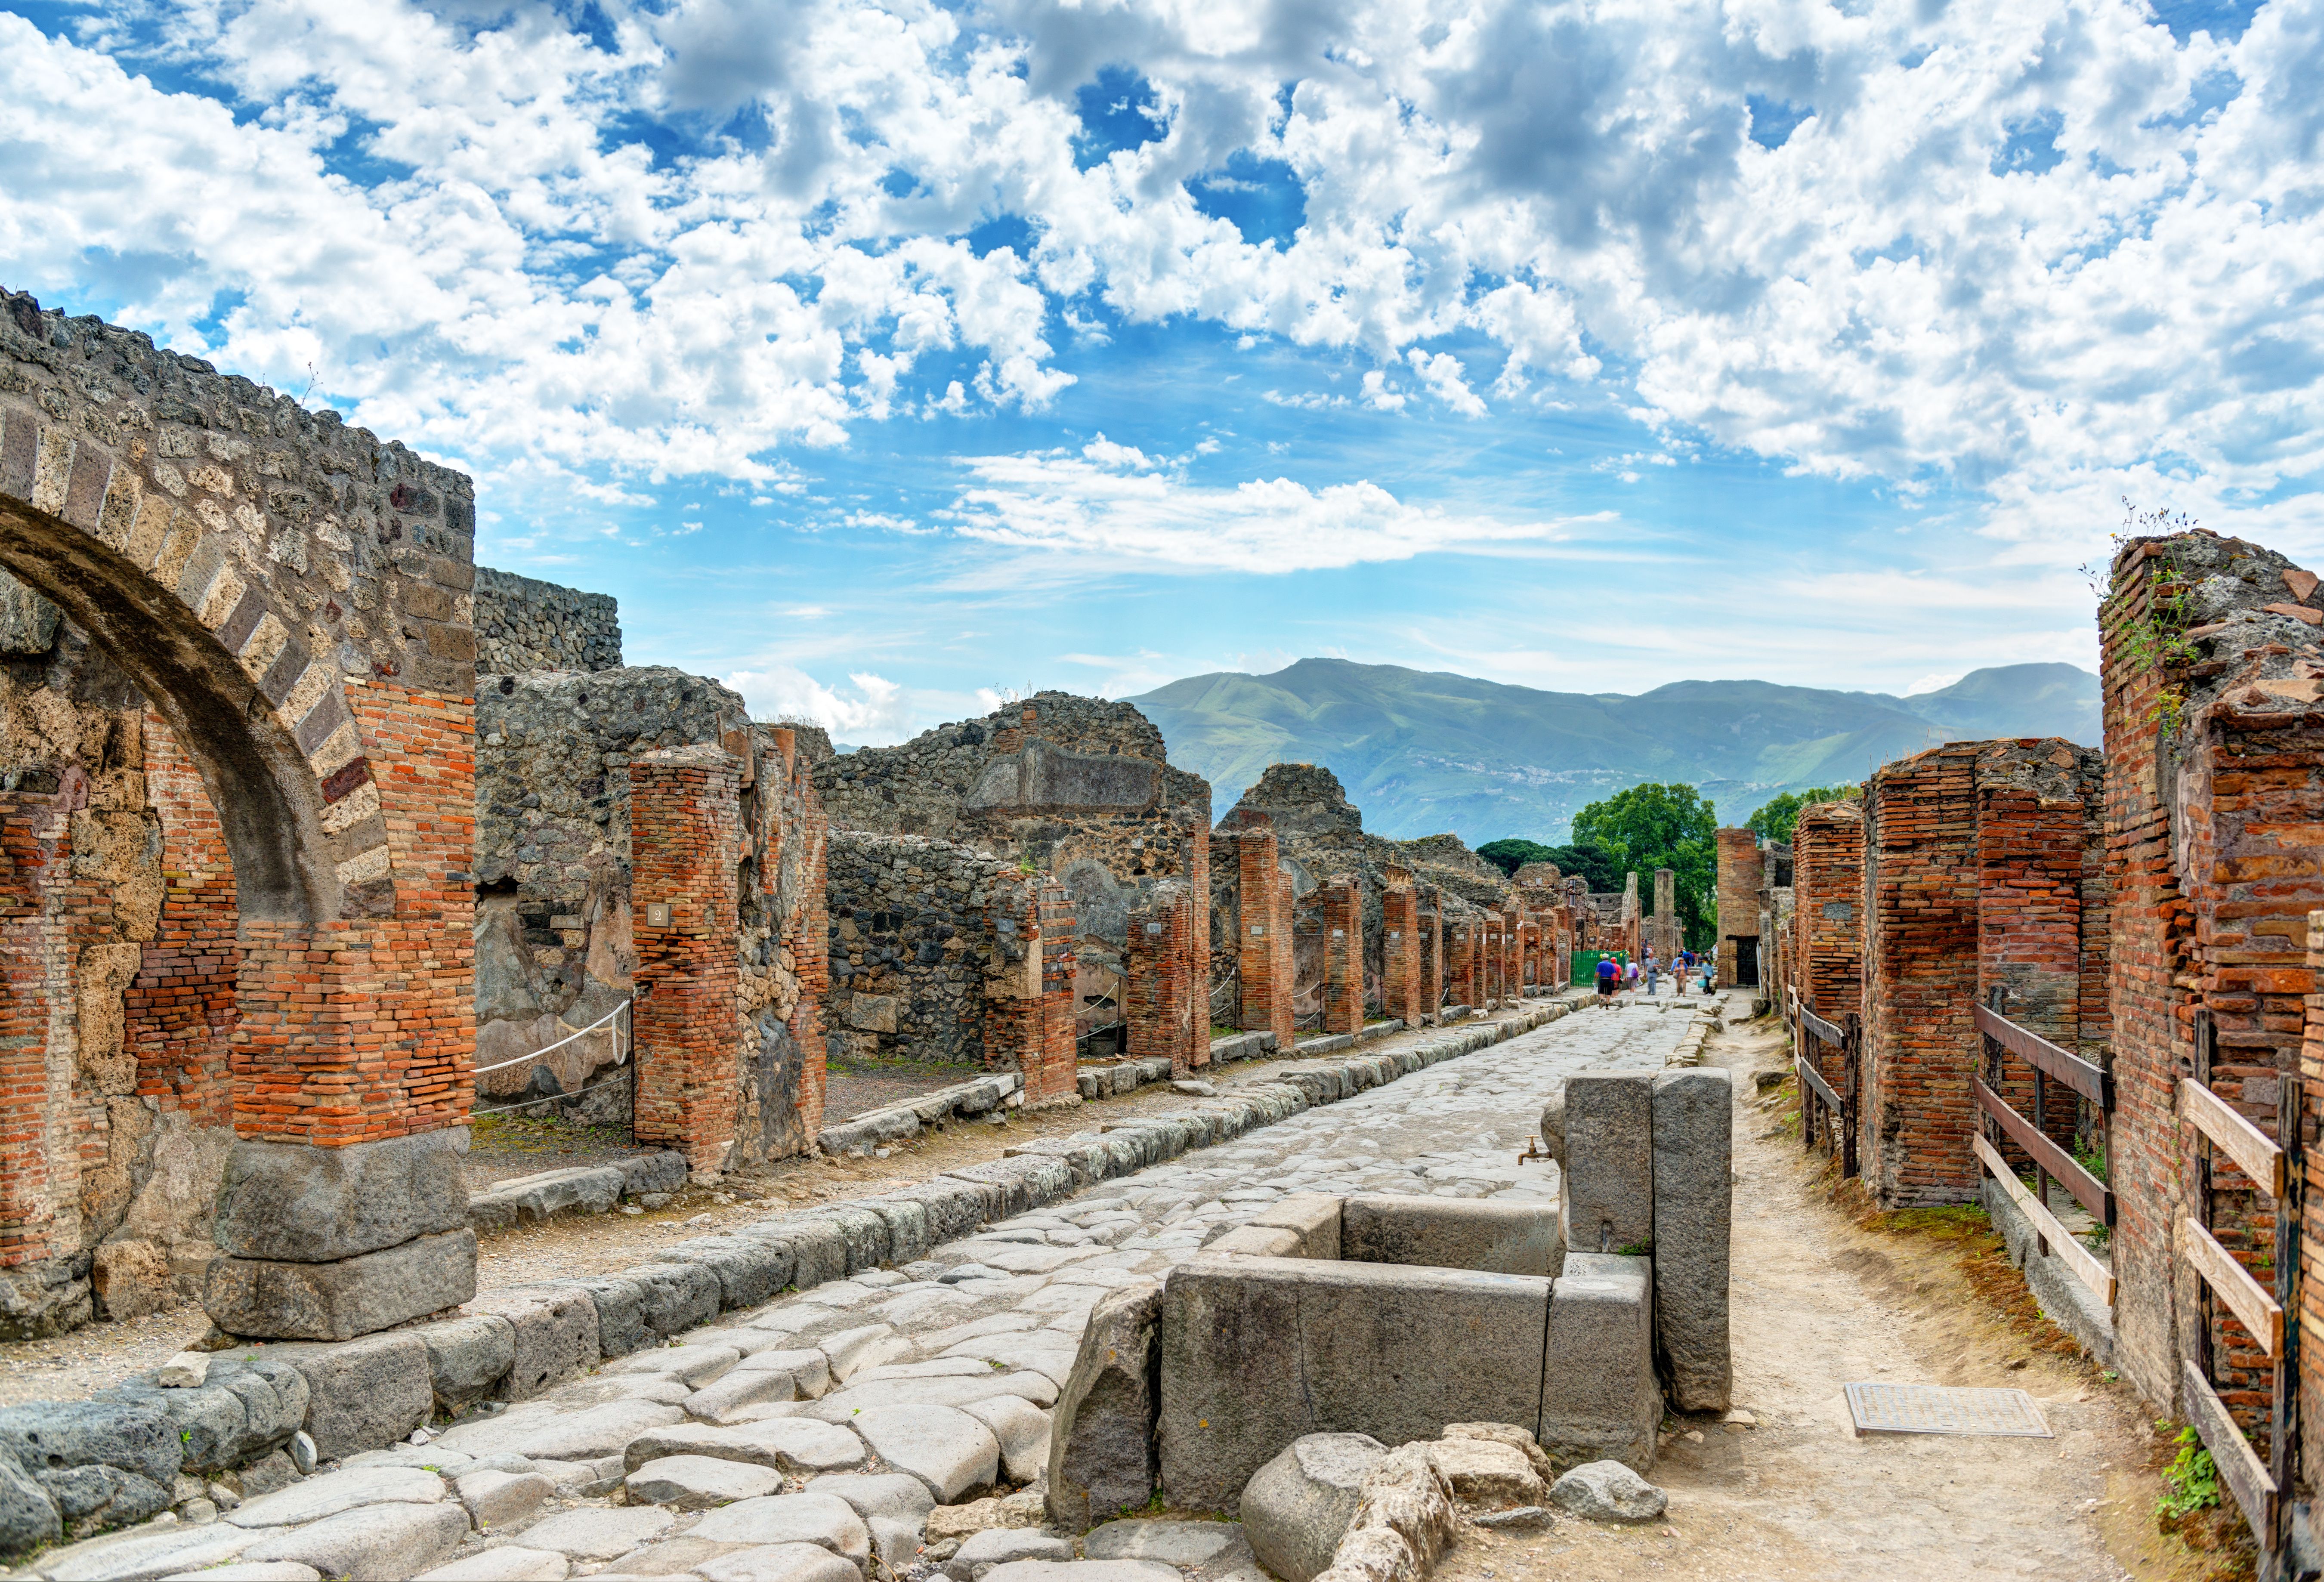
M 1197 1254 L 1162 1287 L 1162 1489 L 1232 1510 L 1306 1433 L 1534 1422 L 1548 1313 L 1527 1275 Z

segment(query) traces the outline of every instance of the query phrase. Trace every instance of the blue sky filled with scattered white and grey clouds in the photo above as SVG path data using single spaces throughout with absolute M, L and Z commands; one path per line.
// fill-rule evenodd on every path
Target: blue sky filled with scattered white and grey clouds
M 2324 0 L 0 0 L 0 283 L 890 741 L 1301 655 L 2094 662 L 2324 560 Z

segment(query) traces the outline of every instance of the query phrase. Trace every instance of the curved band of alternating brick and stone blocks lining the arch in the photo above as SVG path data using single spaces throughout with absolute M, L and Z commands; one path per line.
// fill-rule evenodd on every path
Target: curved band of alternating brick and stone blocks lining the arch
M 191 474 L 191 476 L 186 476 Z M 193 750 L 246 918 L 393 906 L 379 785 L 332 655 L 300 637 L 235 467 L 156 488 L 114 448 L 0 397 L 0 565 L 58 604 Z

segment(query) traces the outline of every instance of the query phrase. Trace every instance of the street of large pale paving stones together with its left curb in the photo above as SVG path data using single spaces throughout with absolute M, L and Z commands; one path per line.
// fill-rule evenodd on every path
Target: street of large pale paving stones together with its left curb
M 1562 1073 L 1662 1066 L 1694 1024 L 1618 1008 L 1541 1027 L 1564 1011 L 1292 1062 L 1185 1113 L 1037 1141 L 623 1275 L 495 1292 L 460 1319 L 225 1352 L 198 1389 L 0 1412 L 19 1464 L 33 1447 L 12 1419 L 79 1412 L 70 1433 L 44 1429 L 44 1454 L 107 1487 L 121 1433 L 142 1424 L 130 1475 L 167 1484 L 177 1515 L 49 1549 L 23 1575 L 848 1582 L 923 1545 L 957 1563 L 955 1540 L 983 1529 L 1013 1536 L 978 1540 L 960 1582 L 985 1563 L 1055 1563 L 1069 1540 L 1034 1543 L 1039 1494 L 962 1508 L 1041 1477 L 1090 1308 L 1287 1192 L 1555 1196 L 1555 1171 L 1518 1152 Z M 1494 1043 L 1492 1059 L 1450 1059 Z M 1313 1108 L 1332 1099 L 1346 1103 Z M 1190 1148 L 1204 1152 L 1181 1159 Z M 442 1410 L 462 1415 L 425 1445 L 381 1450 Z M 302 1424 L 311 1450 L 288 1443 Z M 321 1468 L 300 1480 L 307 1454 Z M 14 1517 L 26 1494 L 58 1498 L 56 1470 L 0 1477 Z M 1136 1547 L 1104 1531 L 1083 1554 Z M 1192 1566 L 1222 1575 L 1239 1554 L 1225 1543 Z

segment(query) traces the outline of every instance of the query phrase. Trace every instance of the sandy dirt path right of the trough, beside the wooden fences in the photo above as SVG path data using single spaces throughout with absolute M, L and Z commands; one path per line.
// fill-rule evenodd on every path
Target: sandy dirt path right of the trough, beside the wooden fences
M 2154 1436 L 2131 1392 L 2013 1333 L 1964 1278 L 1957 1238 L 1859 1229 L 1831 1206 L 1783 1106 L 1755 1099 L 1750 1071 L 1783 1059 L 1771 1024 L 1706 1050 L 1738 1083 L 1734 1401 L 1757 1426 L 1666 1424 L 1666 1522 L 1471 1531 L 1441 1582 L 2203 1575 L 2203 1556 L 2154 1531 Z M 1855 1438 L 1852 1380 L 2022 1387 L 2054 1438 Z

